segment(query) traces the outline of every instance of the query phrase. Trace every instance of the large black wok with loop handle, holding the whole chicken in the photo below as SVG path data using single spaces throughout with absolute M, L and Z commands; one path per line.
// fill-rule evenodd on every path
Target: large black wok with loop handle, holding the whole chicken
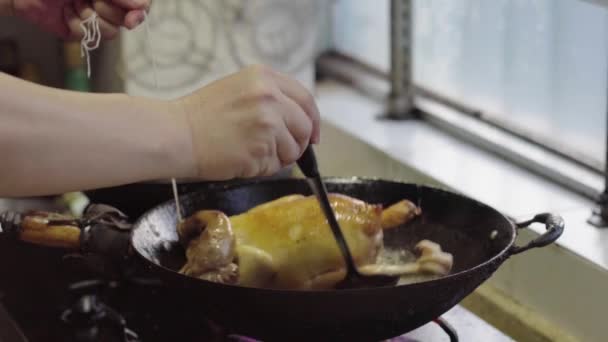
M 402 199 L 418 203 L 422 215 L 385 232 L 385 245 L 413 250 L 422 239 L 435 241 L 453 254 L 452 273 L 409 285 L 321 291 L 245 288 L 187 277 L 176 271 L 185 257 L 175 230 L 172 201 L 145 212 L 128 234 L 123 230 L 121 236 L 126 239 L 83 234 L 80 245 L 113 254 L 117 262 L 124 259 L 116 254 L 136 256 L 146 274 L 171 289 L 176 310 L 200 313 L 237 334 L 264 341 L 379 341 L 433 321 L 488 279 L 506 259 L 553 243 L 564 229 L 558 216 L 539 214 L 516 224 L 478 201 L 415 184 L 328 178 L 326 186 L 330 192 L 368 203 L 390 205 Z M 294 193 L 312 194 L 304 179 L 259 180 L 197 190 L 182 196 L 181 204 L 186 216 L 200 209 L 233 215 Z M 517 229 L 532 222 L 544 223 L 547 231 L 523 247 L 515 246 Z

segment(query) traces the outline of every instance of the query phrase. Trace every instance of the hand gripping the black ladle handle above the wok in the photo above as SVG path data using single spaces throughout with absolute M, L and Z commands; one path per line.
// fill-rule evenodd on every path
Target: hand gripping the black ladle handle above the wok
M 191 129 L 197 176 L 270 176 L 319 142 L 319 110 L 297 81 L 247 67 L 175 100 Z

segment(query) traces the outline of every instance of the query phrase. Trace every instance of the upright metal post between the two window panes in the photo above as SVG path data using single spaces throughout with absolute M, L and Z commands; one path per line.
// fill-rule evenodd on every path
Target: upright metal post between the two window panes
M 391 0 L 391 91 L 384 118 L 414 118 L 412 0 Z

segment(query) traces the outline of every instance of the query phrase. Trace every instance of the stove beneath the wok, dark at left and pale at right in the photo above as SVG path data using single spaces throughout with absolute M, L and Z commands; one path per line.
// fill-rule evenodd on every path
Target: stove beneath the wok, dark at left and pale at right
M 91 262 L 0 239 L 0 342 L 257 342 L 176 307 L 176 294 L 146 272 L 109 278 Z M 513 341 L 460 306 L 389 341 L 458 340 Z

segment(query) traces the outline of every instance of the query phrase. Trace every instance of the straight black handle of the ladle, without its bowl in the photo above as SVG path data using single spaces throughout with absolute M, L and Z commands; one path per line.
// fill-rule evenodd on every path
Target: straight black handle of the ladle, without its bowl
M 329 223 L 329 227 L 334 234 L 336 242 L 338 243 L 338 247 L 340 247 L 340 251 L 342 252 L 342 256 L 344 257 L 344 261 L 346 262 L 347 267 L 347 275 L 353 276 L 358 275 L 359 272 L 355 267 L 353 262 L 352 254 L 350 253 L 350 249 L 348 248 L 348 244 L 346 243 L 346 239 L 342 234 L 342 230 L 340 229 L 340 225 L 336 220 L 336 216 L 331 208 L 329 203 L 329 198 L 327 197 L 327 189 L 325 188 L 325 184 L 323 184 L 323 180 L 321 179 L 321 175 L 319 174 L 319 167 L 317 165 L 317 158 L 312 149 L 312 145 L 308 145 L 300 159 L 297 161 L 298 167 L 302 171 L 302 173 L 309 179 L 311 185 L 319 199 L 321 209 L 327 218 Z

